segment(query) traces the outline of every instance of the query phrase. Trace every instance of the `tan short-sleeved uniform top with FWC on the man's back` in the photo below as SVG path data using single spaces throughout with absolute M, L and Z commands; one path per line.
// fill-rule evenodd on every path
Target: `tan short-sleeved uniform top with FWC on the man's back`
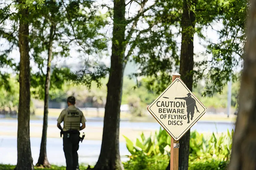
M 86 119 L 83 116 L 83 112 L 74 105 L 70 105 L 68 108 L 62 110 L 58 123 L 64 121 L 63 131 L 78 130 L 80 131 L 80 123 L 85 123 Z

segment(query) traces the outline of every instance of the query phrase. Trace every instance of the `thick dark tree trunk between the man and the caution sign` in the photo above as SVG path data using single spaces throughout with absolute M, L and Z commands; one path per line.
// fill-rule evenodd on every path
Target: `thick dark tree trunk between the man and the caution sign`
M 124 76 L 125 0 L 114 0 L 112 55 L 101 153 L 95 170 L 123 170 L 119 154 L 120 105 Z

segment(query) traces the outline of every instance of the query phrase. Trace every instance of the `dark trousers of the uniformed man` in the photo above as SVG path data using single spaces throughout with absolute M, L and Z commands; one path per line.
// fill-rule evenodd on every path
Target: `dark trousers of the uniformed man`
M 66 158 L 66 170 L 76 170 L 79 168 L 78 154 L 79 149 L 79 134 L 70 134 L 70 138 L 67 134 L 63 134 L 63 151 Z

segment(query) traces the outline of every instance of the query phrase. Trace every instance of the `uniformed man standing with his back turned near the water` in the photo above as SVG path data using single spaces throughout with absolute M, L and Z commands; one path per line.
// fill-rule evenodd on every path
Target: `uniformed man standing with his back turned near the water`
M 80 130 L 85 128 L 86 119 L 79 108 L 75 107 L 75 98 L 73 96 L 67 99 L 68 107 L 62 110 L 57 119 L 57 127 L 63 134 L 63 151 L 66 158 L 66 170 L 79 169 L 78 154 L 80 142 Z M 64 121 L 63 129 L 61 122 Z M 82 123 L 82 126 L 80 126 Z

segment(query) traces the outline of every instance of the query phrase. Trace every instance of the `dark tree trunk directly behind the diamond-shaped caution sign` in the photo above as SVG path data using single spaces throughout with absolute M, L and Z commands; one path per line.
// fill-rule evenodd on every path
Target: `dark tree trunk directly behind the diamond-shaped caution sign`
M 194 66 L 194 28 L 195 28 L 195 13 L 190 11 L 189 7 L 193 1 L 183 1 L 183 13 L 182 13 L 182 43 L 181 43 L 181 57 L 180 57 L 180 74 L 182 81 L 186 84 L 189 90 L 192 91 L 193 84 L 193 66 Z M 189 3 L 189 4 L 188 4 Z M 179 170 L 188 169 L 188 157 L 189 157 L 189 140 L 190 130 L 179 140 Z M 170 169 L 170 163 L 166 170 Z

